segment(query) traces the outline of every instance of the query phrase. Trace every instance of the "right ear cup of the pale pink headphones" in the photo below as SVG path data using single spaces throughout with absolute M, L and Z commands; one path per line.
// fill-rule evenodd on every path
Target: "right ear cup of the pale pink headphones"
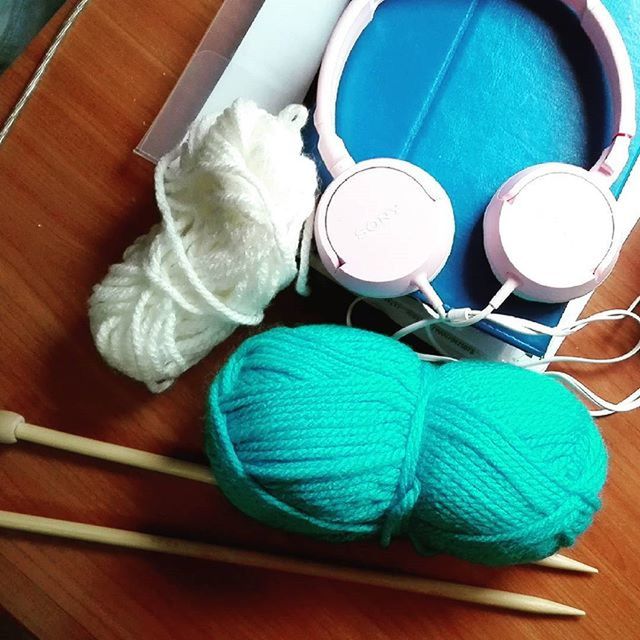
M 484 216 L 484 246 L 496 278 L 516 295 L 565 303 L 592 292 L 619 253 L 616 201 L 597 177 L 548 163 L 508 180 Z

